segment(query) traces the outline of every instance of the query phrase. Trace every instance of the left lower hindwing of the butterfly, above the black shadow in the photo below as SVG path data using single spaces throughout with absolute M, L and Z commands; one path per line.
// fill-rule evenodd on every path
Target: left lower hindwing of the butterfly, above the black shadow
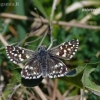
M 32 58 L 22 69 L 21 76 L 25 79 L 38 79 L 41 76 L 39 62 Z

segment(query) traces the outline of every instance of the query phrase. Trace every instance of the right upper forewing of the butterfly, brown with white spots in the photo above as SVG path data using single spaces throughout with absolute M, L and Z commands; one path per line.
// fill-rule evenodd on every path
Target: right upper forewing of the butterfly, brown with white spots
M 61 45 L 57 47 L 52 48 L 50 52 L 54 56 L 69 60 L 75 55 L 78 49 L 78 45 L 79 45 L 78 40 L 71 40 L 71 41 L 62 43 Z

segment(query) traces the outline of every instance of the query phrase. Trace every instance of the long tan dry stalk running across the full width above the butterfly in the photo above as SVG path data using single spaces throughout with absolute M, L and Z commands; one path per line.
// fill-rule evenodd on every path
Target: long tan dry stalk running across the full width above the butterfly
M 41 22 L 39 18 L 32 18 L 32 17 L 20 16 L 20 15 L 8 14 L 8 13 L 1 13 L 0 17 Z M 48 21 L 46 19 L 42 19 L 42 21 L 43 23 L 48 24 Z M 81 23 L 70 23 L 70 22 L 64 22 L 64 21 L 52 21 L 52 24 L 65 26 L 65 27 L 70 26 L 70 27 L 78 27 L 78 28 L 93 29 L 93 30 L 100 29 L 99 26 L 87 25 L 87 24 L 81 24 Z

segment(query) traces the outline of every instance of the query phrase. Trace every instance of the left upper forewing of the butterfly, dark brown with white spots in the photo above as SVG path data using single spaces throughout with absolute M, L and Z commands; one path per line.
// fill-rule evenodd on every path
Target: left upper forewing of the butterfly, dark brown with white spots
M 7 46 L 6 47 L 7 56 L 15 64 L 19 64 L 27 60 L 34 54 L 34 51 L 24 49 L 22 47 Z

